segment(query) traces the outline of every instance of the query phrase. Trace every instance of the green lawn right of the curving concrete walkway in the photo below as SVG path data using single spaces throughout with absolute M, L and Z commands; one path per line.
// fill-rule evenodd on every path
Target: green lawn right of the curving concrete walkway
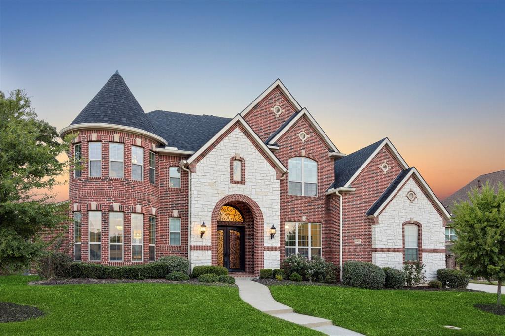
M 298 313 L 328 318 L 367 335 L 505 335 L 505 316 L 473 307 L 496 303 L 496 294 L 336 286 L 271 286 L 270 291 Z

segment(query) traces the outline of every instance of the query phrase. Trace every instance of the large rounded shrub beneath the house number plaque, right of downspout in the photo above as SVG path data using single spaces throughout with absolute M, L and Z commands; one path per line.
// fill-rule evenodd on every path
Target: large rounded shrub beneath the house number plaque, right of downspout
M 342 280 L 345 285 L 380 289 L 384 287 L 386 275 L 382 268 L 371 262 L 346 261 Z

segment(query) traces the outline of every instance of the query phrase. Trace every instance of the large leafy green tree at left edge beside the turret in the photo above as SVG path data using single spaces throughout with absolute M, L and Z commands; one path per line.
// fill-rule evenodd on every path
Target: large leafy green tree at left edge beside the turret
M 29 267 L 46 247 L 40 233 L 68 219 L 51 194 L 69 148 L 56 129 L 38 120 L 22 90 L 0 91 L 0 272 Z

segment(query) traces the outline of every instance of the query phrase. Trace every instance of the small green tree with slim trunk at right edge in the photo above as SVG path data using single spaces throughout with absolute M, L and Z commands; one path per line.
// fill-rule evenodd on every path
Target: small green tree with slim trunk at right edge
M 468 193 L 469 201 L 455 205 L 453 226 L 458 240 L 453 246 L 458 262 L 473 276 L 497 279 L 501 301 L 501 283 L 505 280 L 505 189 L 501 183 L 495 192 L 489 183 L 479 192 Z

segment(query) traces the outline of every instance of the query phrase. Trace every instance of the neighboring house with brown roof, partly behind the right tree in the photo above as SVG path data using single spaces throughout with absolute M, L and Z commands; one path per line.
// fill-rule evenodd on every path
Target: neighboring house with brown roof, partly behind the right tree
M 489 182 L 489 185 L 493 188 L 497 188 L 498 183 L 500 182 L 501 184 L 505 185 L 505 170 L 489 174 L 483 174 L 477 177 L 475 180 L 468 183 L 463 188 L 457 190 L 452 195 L 447 196 L 444 199 L 443 204 L 445 205 L 449 213 L 452 214 L 452 210 L 454 209 L 455 203 L 459 203 L 461 201 L 468 201 L 468 193 L 475 188 L 480 190 L 482 186 L 484 186 L 487 182 Z M 458 239 L 458 237 L 456 236 L 455 229 L 451 228 L 450 223 L 451 221 L 448 221 L 447 226 L 445 228 L 445 264 L 447 268 L 459 268 L 459 266 L 456 263 L 456 256 L 451 251 L 452 244 L 455 240 Z

